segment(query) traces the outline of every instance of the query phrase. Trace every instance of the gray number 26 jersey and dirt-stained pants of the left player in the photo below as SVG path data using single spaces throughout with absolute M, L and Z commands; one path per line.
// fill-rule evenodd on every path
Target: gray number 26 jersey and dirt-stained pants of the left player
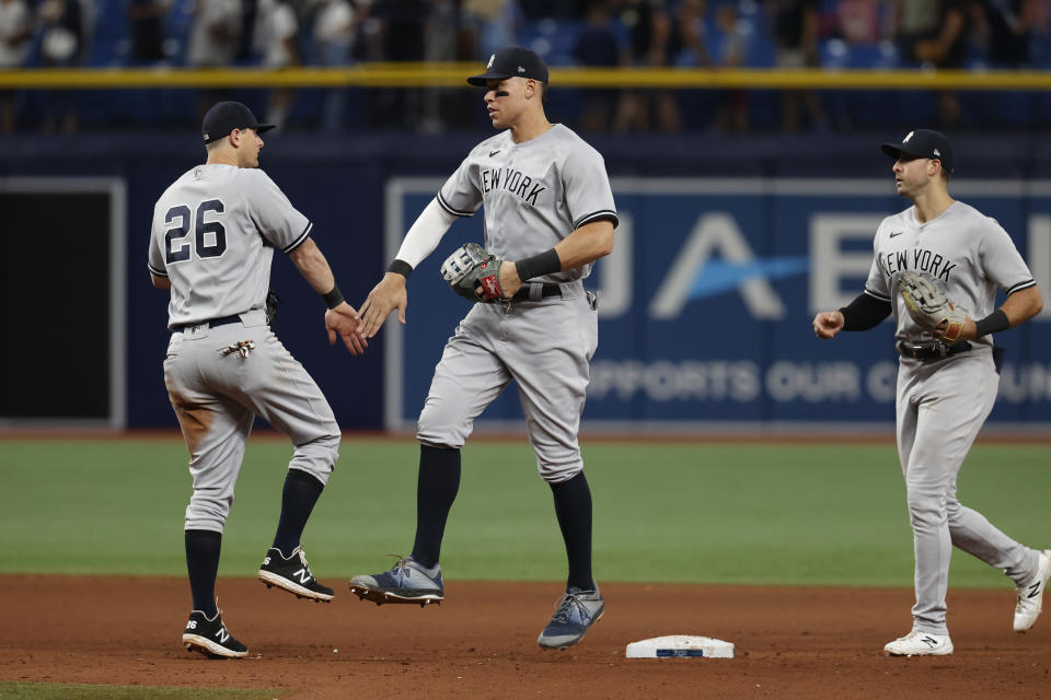
M 199 165 L 158 200 L 149 269 L 171 281 L 164 384 L 189 450 L 186 529 L 222 532 L 256 415 L 288 435 L 290 469 L 322 483 L 339 427 L 321 389 L 266 325 L 274 247 L 310 222 L 255 168 Z

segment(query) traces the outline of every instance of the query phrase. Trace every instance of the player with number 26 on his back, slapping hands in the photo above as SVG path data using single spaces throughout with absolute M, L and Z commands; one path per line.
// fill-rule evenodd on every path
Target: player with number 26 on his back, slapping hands
M 169 187 L 153 209 L 149 270 L 171 290 L 172 337 L 164 383 L 189 450 L 194 492 L 186 508 L 186 567 L 193 611 L 183 643 L 207 656 L 235 658 L 247 648 L 223 625 L 216 573 L 233 488 L 256 415 L 288 435 L 294 453 L 273 546 L 259 580 L 298 597 L 331 600 L 307 564 L 300 536 L 336 463 L 339 427 L 321 389 L 270 328 L 266 298 L 274 248 L 289 255 L 324 295 L 330 342 L 338 334 L 358 354 L 359 318 L 343 301 L 311 222 L 258 170 L 258 124 L 236 102 L 205 115 L 208 151 Z

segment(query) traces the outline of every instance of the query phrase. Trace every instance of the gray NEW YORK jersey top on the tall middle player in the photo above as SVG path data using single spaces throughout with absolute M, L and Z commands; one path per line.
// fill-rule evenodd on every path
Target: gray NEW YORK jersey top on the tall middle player
M 510 129 L 476 145 L 438 192 L 438 203 L 467 217 L 485 203 L 485 249 L 518 260 L 551 248 L 590 221 L 616 222 L 602 156 L 573 130 L 554 125 L 515 143 Z M 586 278 L 585 265 L 534 281 Z

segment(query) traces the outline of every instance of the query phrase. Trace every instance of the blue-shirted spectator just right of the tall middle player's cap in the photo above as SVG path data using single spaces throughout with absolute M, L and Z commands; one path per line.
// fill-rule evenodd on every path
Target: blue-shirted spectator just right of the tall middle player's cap
M 585 13 L 584 28 L 573 49 L 574 58 L 593 68 L 615 68 L 628 62 L 627 37 L 614 15 L 613 0 L 590 0 Z M 617 94 L 613 90 L 590 89 L 582 94 L 580 129 L 605 131 L 616 109 Z

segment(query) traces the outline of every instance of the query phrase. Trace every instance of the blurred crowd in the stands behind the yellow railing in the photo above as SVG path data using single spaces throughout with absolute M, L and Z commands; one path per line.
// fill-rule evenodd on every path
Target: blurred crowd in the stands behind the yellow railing
M 553 67 L 1048 70 L 1051 0 L 0 0 L 0 69 L 474 61 L 510 44 Z M 427 131 L 481 113 L 465 91 L 351 92 L 273 90 L 264 113 L 337 129 L 354 102 L 363 126 Z M 573 92 L 562 106 L 585 131 L 841 130 L 886 104 L 881 93 Z M 198 109 L 220 96 L 203 91 Z M 937 126 L 981 126 L 965 119 L 960 94 L 922 100 Z M 1006 126 L 1046 120 L 1040 100 Z M 83 102 L 77 91 L 0 92 L 0 130 L 71 131 Z

